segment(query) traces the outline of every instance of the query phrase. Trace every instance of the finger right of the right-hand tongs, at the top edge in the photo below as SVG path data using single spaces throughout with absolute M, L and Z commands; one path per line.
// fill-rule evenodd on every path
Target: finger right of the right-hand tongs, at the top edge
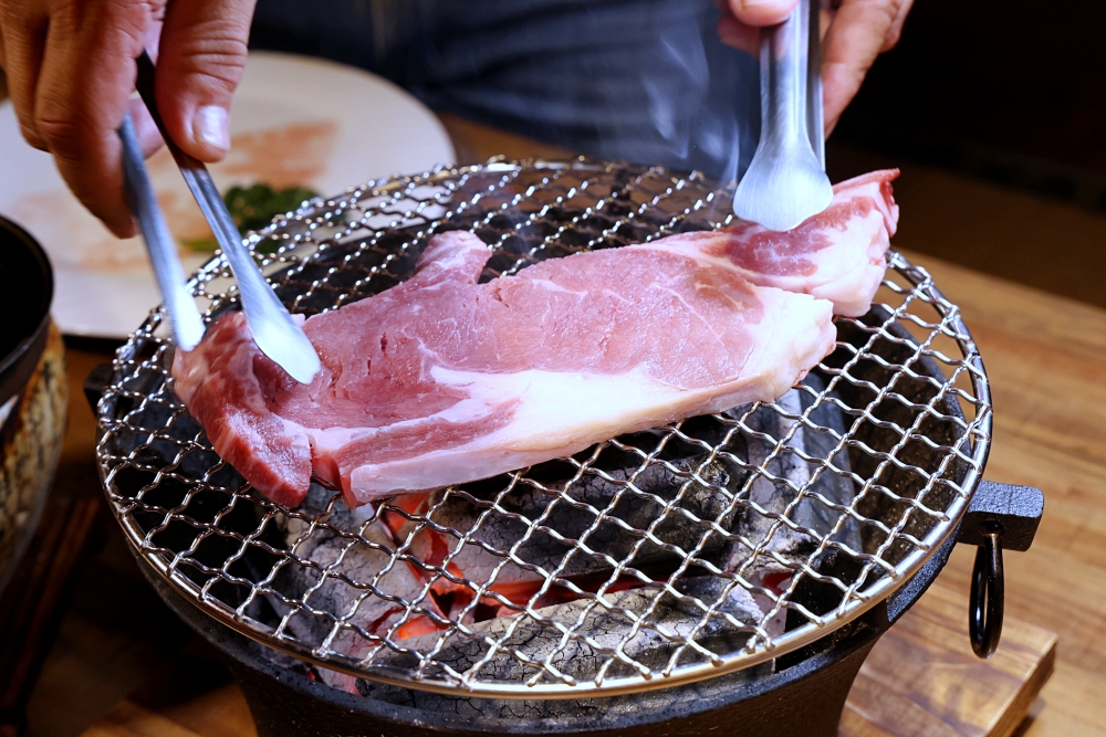
M 822 56 L 826 135 L 884 49 L 900 6 L 898 0 L 845 0 L 837 9 Z

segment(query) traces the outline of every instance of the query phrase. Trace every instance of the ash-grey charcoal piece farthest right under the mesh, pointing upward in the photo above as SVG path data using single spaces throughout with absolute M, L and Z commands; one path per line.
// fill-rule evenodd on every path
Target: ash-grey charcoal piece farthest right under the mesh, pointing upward
M 808 375 L 802 383 L 820 393 L 825 390 L 825 383 L 815 373 Z M 785 412 L 796 415 L 810 409 L 813 402 L 814 398 L 802 389 L 792 389 L 776 400 L 776 404 Z M 731 410 L 729 414 L 740 418 L 747 411 L 747 407 L 738 408 Z M 758 409 L 745 419 L 745 424 L 751 430 L 764 433 L 776 441 L 783 440 L 793 428 L 795 429 L 791 440 L 787 441 L 786 450 L 778 453 L 770 462 L 766 462 L 766 459 L 774 445 L 771 441 L 747 433 L 744 434 L 745 453 L 751 464 L 764 466 L 773 476 L 786 478 L 795 487 L 807 489 L 803 499 L 787 512 L 787 506 L 797 496 L 795 488 L 782 481 L 773 482 L 763 475 L 758 475 L 749 485 L 749 502 L 757 504 L 769 514 L 758 512 L 751 504 L 747 505 L 739 522 L 738 531 L 753 545 L 761 544 L 765 539 L 766 544 L 761 548 L 757 559 L 749 562 L 753 551 L 747 545 L 734 543 L 730 551 L 729 569 L 738 570 L 744 566 L 744 577 L 758 586 L 763 583 L 768 575 L 793 572 L 794 566 L 805 562 L 811 554 L 817 549 L 818 538 L 830 536 L 833 533 L 841 518 L 844 519 L 837 531 L 833 534 L 832 539 L 851 550 L 857 552 L 862 550 L 860 530 L 856 520 L 848 517 L 843 509 L 834 509 L 818 498 L 821 496 L 834 505 L 847 507 L 856 496 L 853 481 L 831 473 L 827 468 L 822 468 L 817 478 L 812 483 L 811 478 L 820 466 L 803 461 L 791 450 L 800 450 L 814 459 L 830 460 L 837 470 L 847 473 L 849 462 L 845 451 L 831 459 L 837 439 L 845 434 L 845 420 L 841 410 L 825 399 L 810 413 L 808 419 L 820 428 L 832 430 L 836 436 L 830 432 L 816 431 L 807 424 L 800 423 L 799 420 L 785 418 L 768 407 Z M 771 515 L 783 515 L 784 513 L 795 525 L 812 530 L 817 535 L 817 538 L 807 533 L 791 529 L 783 524 L 774 533 L 771 533 L 771 528 L 776 522 Z M 770 533 L 771 537 L 769 537 Z M 772 554 L 786 560 L 787 565 L 779 562 Z

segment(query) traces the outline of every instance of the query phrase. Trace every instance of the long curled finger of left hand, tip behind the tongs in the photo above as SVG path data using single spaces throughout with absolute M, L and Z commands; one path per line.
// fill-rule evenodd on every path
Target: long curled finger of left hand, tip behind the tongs
M 123 194 L 116 129 L 134 90 L 148 6 L 69 2 L 50 18 L 34 123 L 58 170 L 88 210 L 119 236 L 134 233 Z

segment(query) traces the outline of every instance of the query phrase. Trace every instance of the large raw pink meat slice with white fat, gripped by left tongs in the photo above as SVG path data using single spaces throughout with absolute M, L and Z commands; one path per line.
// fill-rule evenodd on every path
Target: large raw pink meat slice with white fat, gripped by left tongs
M 176 355 L 175 389 L 274 502 L 298 504 L 314 472 L 356 506 L 772 400 L 834 347 L 830 303 L 693 251 L 593 251 L 478 284 L 490 255 L 437 235 L 407 282 L 307 319 L 310 386 L 229 313 Z

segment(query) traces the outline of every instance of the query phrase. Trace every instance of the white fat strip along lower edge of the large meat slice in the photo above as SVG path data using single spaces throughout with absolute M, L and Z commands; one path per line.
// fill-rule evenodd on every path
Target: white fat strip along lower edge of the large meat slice
M 782 299 L 786 307 L 765 304 L 765 315 L 776 319 L 757 326 L 762 334 L 761 349 L 752 354 L 740 376 L 720 385 L 682 389 L 650 378 L 643 367 L 619 375 L 542 370 L 487 373 L 435 367 L 431 375 L 436 381 L 462 388 L 469 398 L 430 418 L 397 423 L 390 429 L 441 420 L 479 420 L 518 400 L 510 422 L 462 445 L 362 465 L 349 474 L 351 491 L 364 503 L 405 491 L 484 478 L 552 456 L 571 455 L 619 433 L 750 401 L 773 400 L 806 375 L 804 367 L 817 364 L 833 349 L 836 331 L 827 302 L 771 287 L 758 291 L 765 303 Z M 782 323 L 791 325 L 791 329 Z M 795 329 L 796 324 L 802 329 Z M 307 432 L 317 451 L 336 450 L 346 442 L 388 430 L 331 428 Z

